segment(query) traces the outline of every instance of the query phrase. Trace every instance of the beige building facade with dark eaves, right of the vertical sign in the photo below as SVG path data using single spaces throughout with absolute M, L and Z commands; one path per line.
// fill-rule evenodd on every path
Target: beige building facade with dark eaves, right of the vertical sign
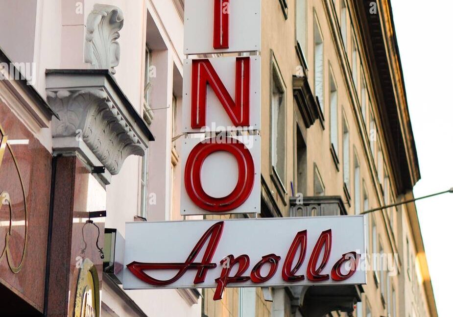
M 262 217 L 413 198 L 420 171 L 390 1 L 263 1 L 262 17 Z M 230 290 L 222 303 L 205 296 L 203 313 L 437 316 L 415 204 L 367 223 L 362 289 L 274 289 L 272 303 Z

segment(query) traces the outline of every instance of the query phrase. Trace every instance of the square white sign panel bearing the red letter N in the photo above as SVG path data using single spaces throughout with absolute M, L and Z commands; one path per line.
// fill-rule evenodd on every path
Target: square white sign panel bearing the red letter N
M 261 57 L 187 59 L 183 132 L 261 127 Z

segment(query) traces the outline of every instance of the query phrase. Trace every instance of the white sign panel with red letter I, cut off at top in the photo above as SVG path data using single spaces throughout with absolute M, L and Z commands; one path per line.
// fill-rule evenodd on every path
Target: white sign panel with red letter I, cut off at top
M 261 50 L 261 0 L 186 0 L 184 53 Z

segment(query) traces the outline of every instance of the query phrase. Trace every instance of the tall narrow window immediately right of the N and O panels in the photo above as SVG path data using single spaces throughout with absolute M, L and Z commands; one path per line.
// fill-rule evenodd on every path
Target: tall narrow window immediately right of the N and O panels
M 271 154 L 272 170 L 276 174 L 281 186 L 285 187 L 285 133 L 286 110 L 285 90 L 275 64 L 272 67 L 272 106 L 271 106 Z

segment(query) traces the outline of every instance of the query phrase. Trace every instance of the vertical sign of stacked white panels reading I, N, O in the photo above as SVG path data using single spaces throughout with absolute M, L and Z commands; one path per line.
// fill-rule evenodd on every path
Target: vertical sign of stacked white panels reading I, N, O
M 181 214 L 260 212 L 261 0 L 186 0 L 184 28 Z

